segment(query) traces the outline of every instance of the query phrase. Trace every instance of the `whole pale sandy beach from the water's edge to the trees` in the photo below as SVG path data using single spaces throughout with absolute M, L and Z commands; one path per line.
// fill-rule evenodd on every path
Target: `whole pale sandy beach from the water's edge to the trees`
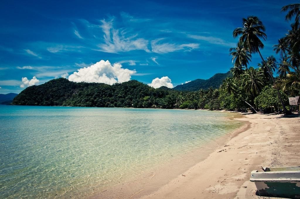
M 262 198 L 255 194 L 250 173 L 260 166 L 299 165 L 300 117 L 240 115 L 234 120 L 247 124 L 205 145 L 202 149 L 209 150 L 201 157 L 192 160 L 203 151 L 191 151 L 162 165 L 158 171 L 163 173 L 141 174 L 90 198 Z M 176 161 L 190 162 L 179 166 Z

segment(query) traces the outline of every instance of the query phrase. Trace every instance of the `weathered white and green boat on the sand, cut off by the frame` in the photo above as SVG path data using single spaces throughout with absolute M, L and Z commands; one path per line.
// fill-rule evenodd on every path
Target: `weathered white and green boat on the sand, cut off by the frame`
M 257 194 L 281 198 L 300 198 L 300 166 L 262 167 L 262 172 L 251 172 Z

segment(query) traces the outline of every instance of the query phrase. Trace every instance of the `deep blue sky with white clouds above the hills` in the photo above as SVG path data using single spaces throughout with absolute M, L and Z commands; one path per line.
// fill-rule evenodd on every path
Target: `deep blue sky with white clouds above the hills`
M 289 29 L 295 1 L 1 1 L 0 93 L 65 77 L 153 87 L 208 79 L 232 67 L 241 19 L 265 25 L 264 57 Z M 104 60 L 104 61 L 101 61 Z M 261 60 L 253 55 L 250 66 Z M 73 74 L 75 72 L 75 74 Z

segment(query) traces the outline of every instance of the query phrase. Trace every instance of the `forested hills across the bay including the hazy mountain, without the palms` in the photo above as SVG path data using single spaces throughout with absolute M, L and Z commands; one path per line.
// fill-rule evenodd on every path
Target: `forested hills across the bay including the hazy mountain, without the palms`
M 122 84 L 75 83 L 67 79 L 53 79 L 34 85 L 17 95 L 13 105 L 134 107 L 134 108 L 205 108 L 212 91 L 231 73 L 217 73 L 208 80 L 197 79 L 173 89 L 152 88 L 131 80 Z M 208 99 L 201 101 L 200 89 L 210 89 Z M 217 97 L 217 96 L 215 96 Z M 206 107 L 210 108 L 210 107 Z M 217 107 L 219 108 L 219 107 Z M 215 109 L 215 108 L 212 108 Z

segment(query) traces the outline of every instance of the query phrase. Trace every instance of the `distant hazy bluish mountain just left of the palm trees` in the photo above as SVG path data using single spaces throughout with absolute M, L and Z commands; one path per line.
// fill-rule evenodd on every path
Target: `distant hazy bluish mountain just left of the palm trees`
M 217 73 L 209 79 L 196 79 L 186 84 L 178 85 L 173 89 L 176 91 L 199 91 L 200 89 L 208 89 L 212 88 L 219 88 L 222 84 L 223 79 L 226 77 L 231 77 L 232 73 L 228 71 L 227 73 Z

